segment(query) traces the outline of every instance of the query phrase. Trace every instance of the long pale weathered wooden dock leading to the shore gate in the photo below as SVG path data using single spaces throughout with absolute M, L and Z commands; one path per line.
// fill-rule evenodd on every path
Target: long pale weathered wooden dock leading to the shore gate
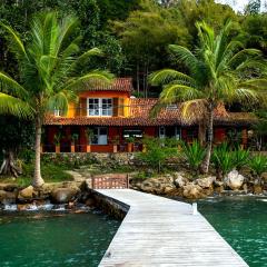
M 100 267 L 248 266 L 189 204 L 131 189 L 98 189 L 130 208 Z

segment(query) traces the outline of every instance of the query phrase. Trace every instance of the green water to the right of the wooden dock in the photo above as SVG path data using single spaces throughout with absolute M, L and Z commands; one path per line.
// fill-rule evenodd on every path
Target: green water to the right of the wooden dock
M 198 209 L 250 267 L 267 266 L 267 199 L 215 198 Z

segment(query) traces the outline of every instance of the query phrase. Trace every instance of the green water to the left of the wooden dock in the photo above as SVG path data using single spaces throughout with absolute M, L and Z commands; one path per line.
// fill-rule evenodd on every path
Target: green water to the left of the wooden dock
M 98 266 L 119 225 L 99 212 L 0 214 L 0 266 Z

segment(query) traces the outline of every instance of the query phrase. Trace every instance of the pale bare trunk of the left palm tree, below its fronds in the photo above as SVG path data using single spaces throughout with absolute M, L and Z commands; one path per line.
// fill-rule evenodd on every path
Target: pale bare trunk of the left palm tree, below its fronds
M 32 180 L 33 187 L 41 187 L 44 181 L 41 178 L 41 120 L 36 119 L 36 165 L 34 165 L 34 176 Z

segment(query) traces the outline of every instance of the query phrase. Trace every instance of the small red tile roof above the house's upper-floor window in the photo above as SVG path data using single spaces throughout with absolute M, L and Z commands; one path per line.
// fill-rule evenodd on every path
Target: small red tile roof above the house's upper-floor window
M 91 89 L 96 91 L 132 91 L 132 79 L 131 78 L 116 78 L 115 81 L 111 85 L 105 85 L 100 81 L 93 82 L 93 86 Z

